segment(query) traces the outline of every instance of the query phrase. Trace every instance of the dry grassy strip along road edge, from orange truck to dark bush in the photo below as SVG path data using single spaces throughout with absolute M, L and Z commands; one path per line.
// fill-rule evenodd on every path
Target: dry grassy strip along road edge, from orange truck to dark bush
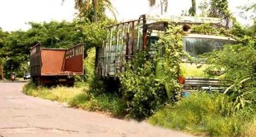
M 125 117 L 125 102 L 115 94 L 96 94 L 90 93 L 88 84 L 79 88 L 44 88 L 36 87 L 32 83 L 26 83 L 23 87 L 23 93 L 46 100 L 56 100 L 67 102 L 69 106 L 82 108 L 89 111 L 105 111 L 114 117 Z

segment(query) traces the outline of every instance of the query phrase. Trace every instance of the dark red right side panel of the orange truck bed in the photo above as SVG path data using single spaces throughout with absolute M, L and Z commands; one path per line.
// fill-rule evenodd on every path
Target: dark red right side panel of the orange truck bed
M 71 71 L 78 75 L 84 74 L 84 45 L 79 44 L 71 49 L 67 49 L 65 54 L 64 71 Z

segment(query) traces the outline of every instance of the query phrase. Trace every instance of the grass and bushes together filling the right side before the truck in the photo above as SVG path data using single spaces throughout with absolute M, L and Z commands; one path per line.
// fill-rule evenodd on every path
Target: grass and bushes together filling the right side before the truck
M 207 31 L 207 27 L 203 28 Z M 201 29 L 197 26 L 194 31 Z M 223 80 L 229 82 L 230 88 L 224 94 L 192 94 L 174 106 L 166 106 L 158 111 L 148 119 L 149 123 L 209 136 L 256 135 L 255 39 L 248 35 L 251 30 L 233 28 L 235 32 L 238 30 L 241 33 L 233 33 L 239 35 L 236 37 L 237 45 L 227 45 L 224 50 L 205 56 L 210 69 L 224 68 Z M 221 31 L 212 30 L 218 35 L 228 34 L 227 31 Z

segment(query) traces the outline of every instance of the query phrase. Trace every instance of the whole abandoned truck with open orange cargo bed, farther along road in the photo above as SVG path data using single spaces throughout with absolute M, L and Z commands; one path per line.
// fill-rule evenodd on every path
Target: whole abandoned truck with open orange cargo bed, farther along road
M 84 45 L 49 49 L 38 43 L 31 49 L 30 68 L 33 83 L 73 86 L 74 76 L 84 75 Z

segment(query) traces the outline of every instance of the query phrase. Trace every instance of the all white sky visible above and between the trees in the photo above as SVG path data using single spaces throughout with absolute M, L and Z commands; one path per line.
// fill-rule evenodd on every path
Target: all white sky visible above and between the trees
M 148 0 L 111 0 L 117 9 L 118 20 L 137 19 L 141 14 L 160 14 L 160 7 L 150 8 Z M 159 0 L 160 1 L 160 0 Z M 191 0 L 169 0 L 167 14 L 179 15 L 189 9 Z M 197 0 L 199 3 L 203 0 Z M 250 0 L 229 0 L 231 12 L 239 14 L 237 6 L 245 5 Z M 251 0 L 255 1 L 255 0 Z M 27 30 L 27 22 L 49 22 L 51 20 L 72 21 L 76 10 L 74 0 L 0 0 L 0 27 L 3 31 Z M 158 4 L 156 4 L 158 5 Z M 108 15 L 111 16 L 107 12 Z M 247 20 L 241 20 L 247 24 Z

